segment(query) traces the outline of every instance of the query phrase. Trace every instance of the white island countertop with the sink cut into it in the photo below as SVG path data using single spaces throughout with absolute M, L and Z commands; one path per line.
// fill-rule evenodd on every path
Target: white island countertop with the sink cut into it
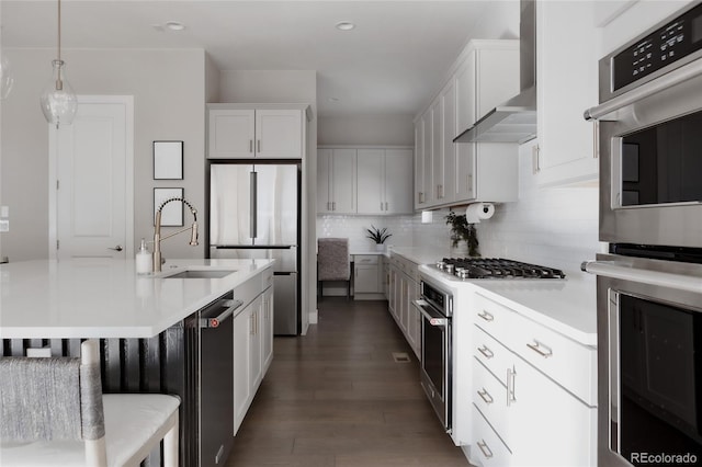
M 273 260 L 169 260 L 137 275 L 134 260 L 0 264 L 0 338 L 151 338 L 261 273 Z M 184 270 L 220 278 L 166 278 Z

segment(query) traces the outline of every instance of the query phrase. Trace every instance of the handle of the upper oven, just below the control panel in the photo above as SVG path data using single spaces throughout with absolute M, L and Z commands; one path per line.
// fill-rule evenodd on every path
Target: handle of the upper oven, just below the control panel
M 616 98 L 612 98 L 603 104 L 596 105 L 585 111 L 585 119 L 612 119 L 612 114 L 616 111 L 633 104 L 634 102 L 646 99 L 660 91 L 687 81 L 691 78 L 702 75 L 702 60 L 694 60 L 684 67 L 675 69 L 653 81 L 641 84 Z

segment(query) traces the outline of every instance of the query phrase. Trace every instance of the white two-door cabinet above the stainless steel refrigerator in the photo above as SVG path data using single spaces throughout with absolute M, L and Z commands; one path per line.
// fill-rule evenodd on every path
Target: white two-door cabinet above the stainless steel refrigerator
M 207 104 L 207 157 L 302 159 L 306 147 L 305 107 Z

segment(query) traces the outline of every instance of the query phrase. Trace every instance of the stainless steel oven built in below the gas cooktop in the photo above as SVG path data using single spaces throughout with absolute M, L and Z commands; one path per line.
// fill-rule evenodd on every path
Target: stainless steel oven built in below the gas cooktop
M 451 432 L 453 295 L 427 281 L 421 281 L 420 294 L 415 306 L 421 314 L 421 386 Z

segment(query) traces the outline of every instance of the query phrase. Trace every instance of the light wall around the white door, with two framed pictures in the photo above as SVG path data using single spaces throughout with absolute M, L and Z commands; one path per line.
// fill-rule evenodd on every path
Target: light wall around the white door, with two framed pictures
M 2 103 L 0 204 L 10 206 L 10 232 L 2 234 L 0 255 L 10 261 L 44 259 L 48 257 L 48 128 L 38 96 L 50 78 L 54 50 L 4 52 L 16 83 Z M 78 94 L 134 95 L 135 243 L 152 236 L 155 186 L 184 187 L 185 197 L 204 212 L 204 50 L 69 49 L 64 59 Z M 159 139 L 184 141 L 184 180 L 152 180 L 152 141 Z M 202 258 L 204 246 L 192 248 L 186 240 L 165 241 L 165 258 Z

